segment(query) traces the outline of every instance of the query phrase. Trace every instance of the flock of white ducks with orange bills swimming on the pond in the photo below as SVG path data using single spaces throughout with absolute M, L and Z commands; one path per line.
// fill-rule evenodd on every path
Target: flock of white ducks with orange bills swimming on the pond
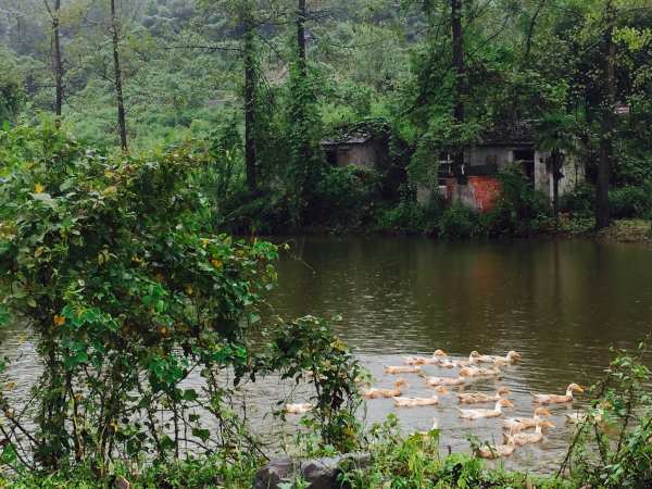
M 466 386 L 474 379 L 496 378 L 500 375 L 500 367 L 518 362 L 522 355 L 510 351 L 505 356 L 484 355 L 473 351 L 468 359 L 453 360 L 442 350 L 437 350 L 432 356 L 411 356 L 404 360 L 403 365 L 386 366 L 387 375 L 414 374 L 419 376 L 428 387 L 435 390 L 429 398 L 412 398 L 403 396 L 404 389 L 409 387 L 408 380 L 399 378 L 393 388 L 383 389 L 366 387 L 362 394 L 366 399 L 391 399 L 397 408 L 416 408 L 438 405 L 439 394 L 449 392 L 450 387 Z M 436 365 L 438 367 L 457 369 L 455 377 L 431 377 L 423 371 L 424 365 Z M 503 443 L 497 446 L 482 446 L 478 449 L 478 455 L 484 459 L 497 459 L 512 455 L 517 447 L 538 443 L 543 439 L 544 428 L 554 428 L 554 425 L 546 419 L 552 413 L 546 408 L 551 404 L 569 404 L 573 402 L 575 392 L 584 392 L 577 384 L 570 384 L 565 394 L 532 394 L 536 405 L 532 417 L 512 417 L 502 421 Z M 457 402 L 463 405 L 496 403 L 493 409 L 462 409 L 457 408 L 459 416 L 474 421 L 481 418 L 500 417 L 503 408 L 513 408 L 514 403 L 507 399 L 510 389 L 499 387 L 494 393 L 485 392 L 460 392 L 456 394 Z M 286 412 L 303 414 L 312 409 L 310 404 L 287 404 Z M 573 419 L 570 419 L 573 421 Z M 438 428 L 437 419 L 434 419 L 432 429 Z M 530 431 L 532 430 L 534 431 Z

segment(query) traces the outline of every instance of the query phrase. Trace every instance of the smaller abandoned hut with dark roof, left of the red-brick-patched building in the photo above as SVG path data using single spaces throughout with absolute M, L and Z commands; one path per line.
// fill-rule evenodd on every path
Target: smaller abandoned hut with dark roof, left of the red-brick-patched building
M 335 166 L 386 170 L 391 165 L 389 127 L 377 121 L 363 121 L 340 127 L 322 141 L 326 161 Z

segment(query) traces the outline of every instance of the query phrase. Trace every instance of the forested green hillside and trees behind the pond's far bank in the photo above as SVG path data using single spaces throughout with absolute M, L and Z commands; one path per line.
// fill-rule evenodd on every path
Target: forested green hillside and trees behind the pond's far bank
M 60 113 L 109 153 L 192 139 L 237 230 L 522 231 L 509 215 L 550 215 L 536 196 L 491 223 L 457 210 L 460 233 L 414 205 L 441 154 L 459 166 L 515 121 L 586 166 L 555 210 L 603 227 L 652 209 L 647 0 L 1 0 L 0 40 L 2 118 Z M 389 173 L 325 163 L 322 139 L 371 121 L 391 130 Z

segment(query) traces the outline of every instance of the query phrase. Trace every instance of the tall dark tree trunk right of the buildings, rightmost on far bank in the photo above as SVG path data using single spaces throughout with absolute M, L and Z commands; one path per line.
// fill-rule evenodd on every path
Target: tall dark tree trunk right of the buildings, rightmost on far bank
M 613 158 L 613 139 L 615 130 L 614 112 L 616 104 L 616 46 L 613 39 L 615 17 L 616 13 L 613 1 L 609 0 L 605 9 L 606 26 L 601 45 L 601 54 L 604 60 L 605 89 L 600 121 L 600 159 L 598 162 L 598 178 L 595 185 L 597 229 L 603 229 L 611 223 L 609 189 Z

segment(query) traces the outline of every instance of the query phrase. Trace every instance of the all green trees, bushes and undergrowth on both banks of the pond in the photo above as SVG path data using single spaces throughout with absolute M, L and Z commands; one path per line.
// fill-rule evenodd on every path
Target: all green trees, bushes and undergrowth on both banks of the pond
M 535 484 L 440 456 L 436 431 L 362 432 L 355 359 L 324 319 L 262 324 L 279 248 L 225 233 L 650 217 L 648 2 L 0 0 L 0 323 L 29 325 L 42 368 L 16 402 L 0 365 L 0 487 L 249 487 L 267 453 L 238 392 L 267 376 L 312 392 L 303 454 L 371 453 L 351 487 Z M 416 204 L 439 154 L 459 163 L 507 120 L 537 121 L 589 181 L 553 209 L 507 168 L 487 214 Z M 386 134 L 385 171 L 324 158 L 322 139 L 361 123 Z M 648 381 L 620 354 L 593 401 L 617 435 L 588 416 L 536 484 L 649 484 Z

